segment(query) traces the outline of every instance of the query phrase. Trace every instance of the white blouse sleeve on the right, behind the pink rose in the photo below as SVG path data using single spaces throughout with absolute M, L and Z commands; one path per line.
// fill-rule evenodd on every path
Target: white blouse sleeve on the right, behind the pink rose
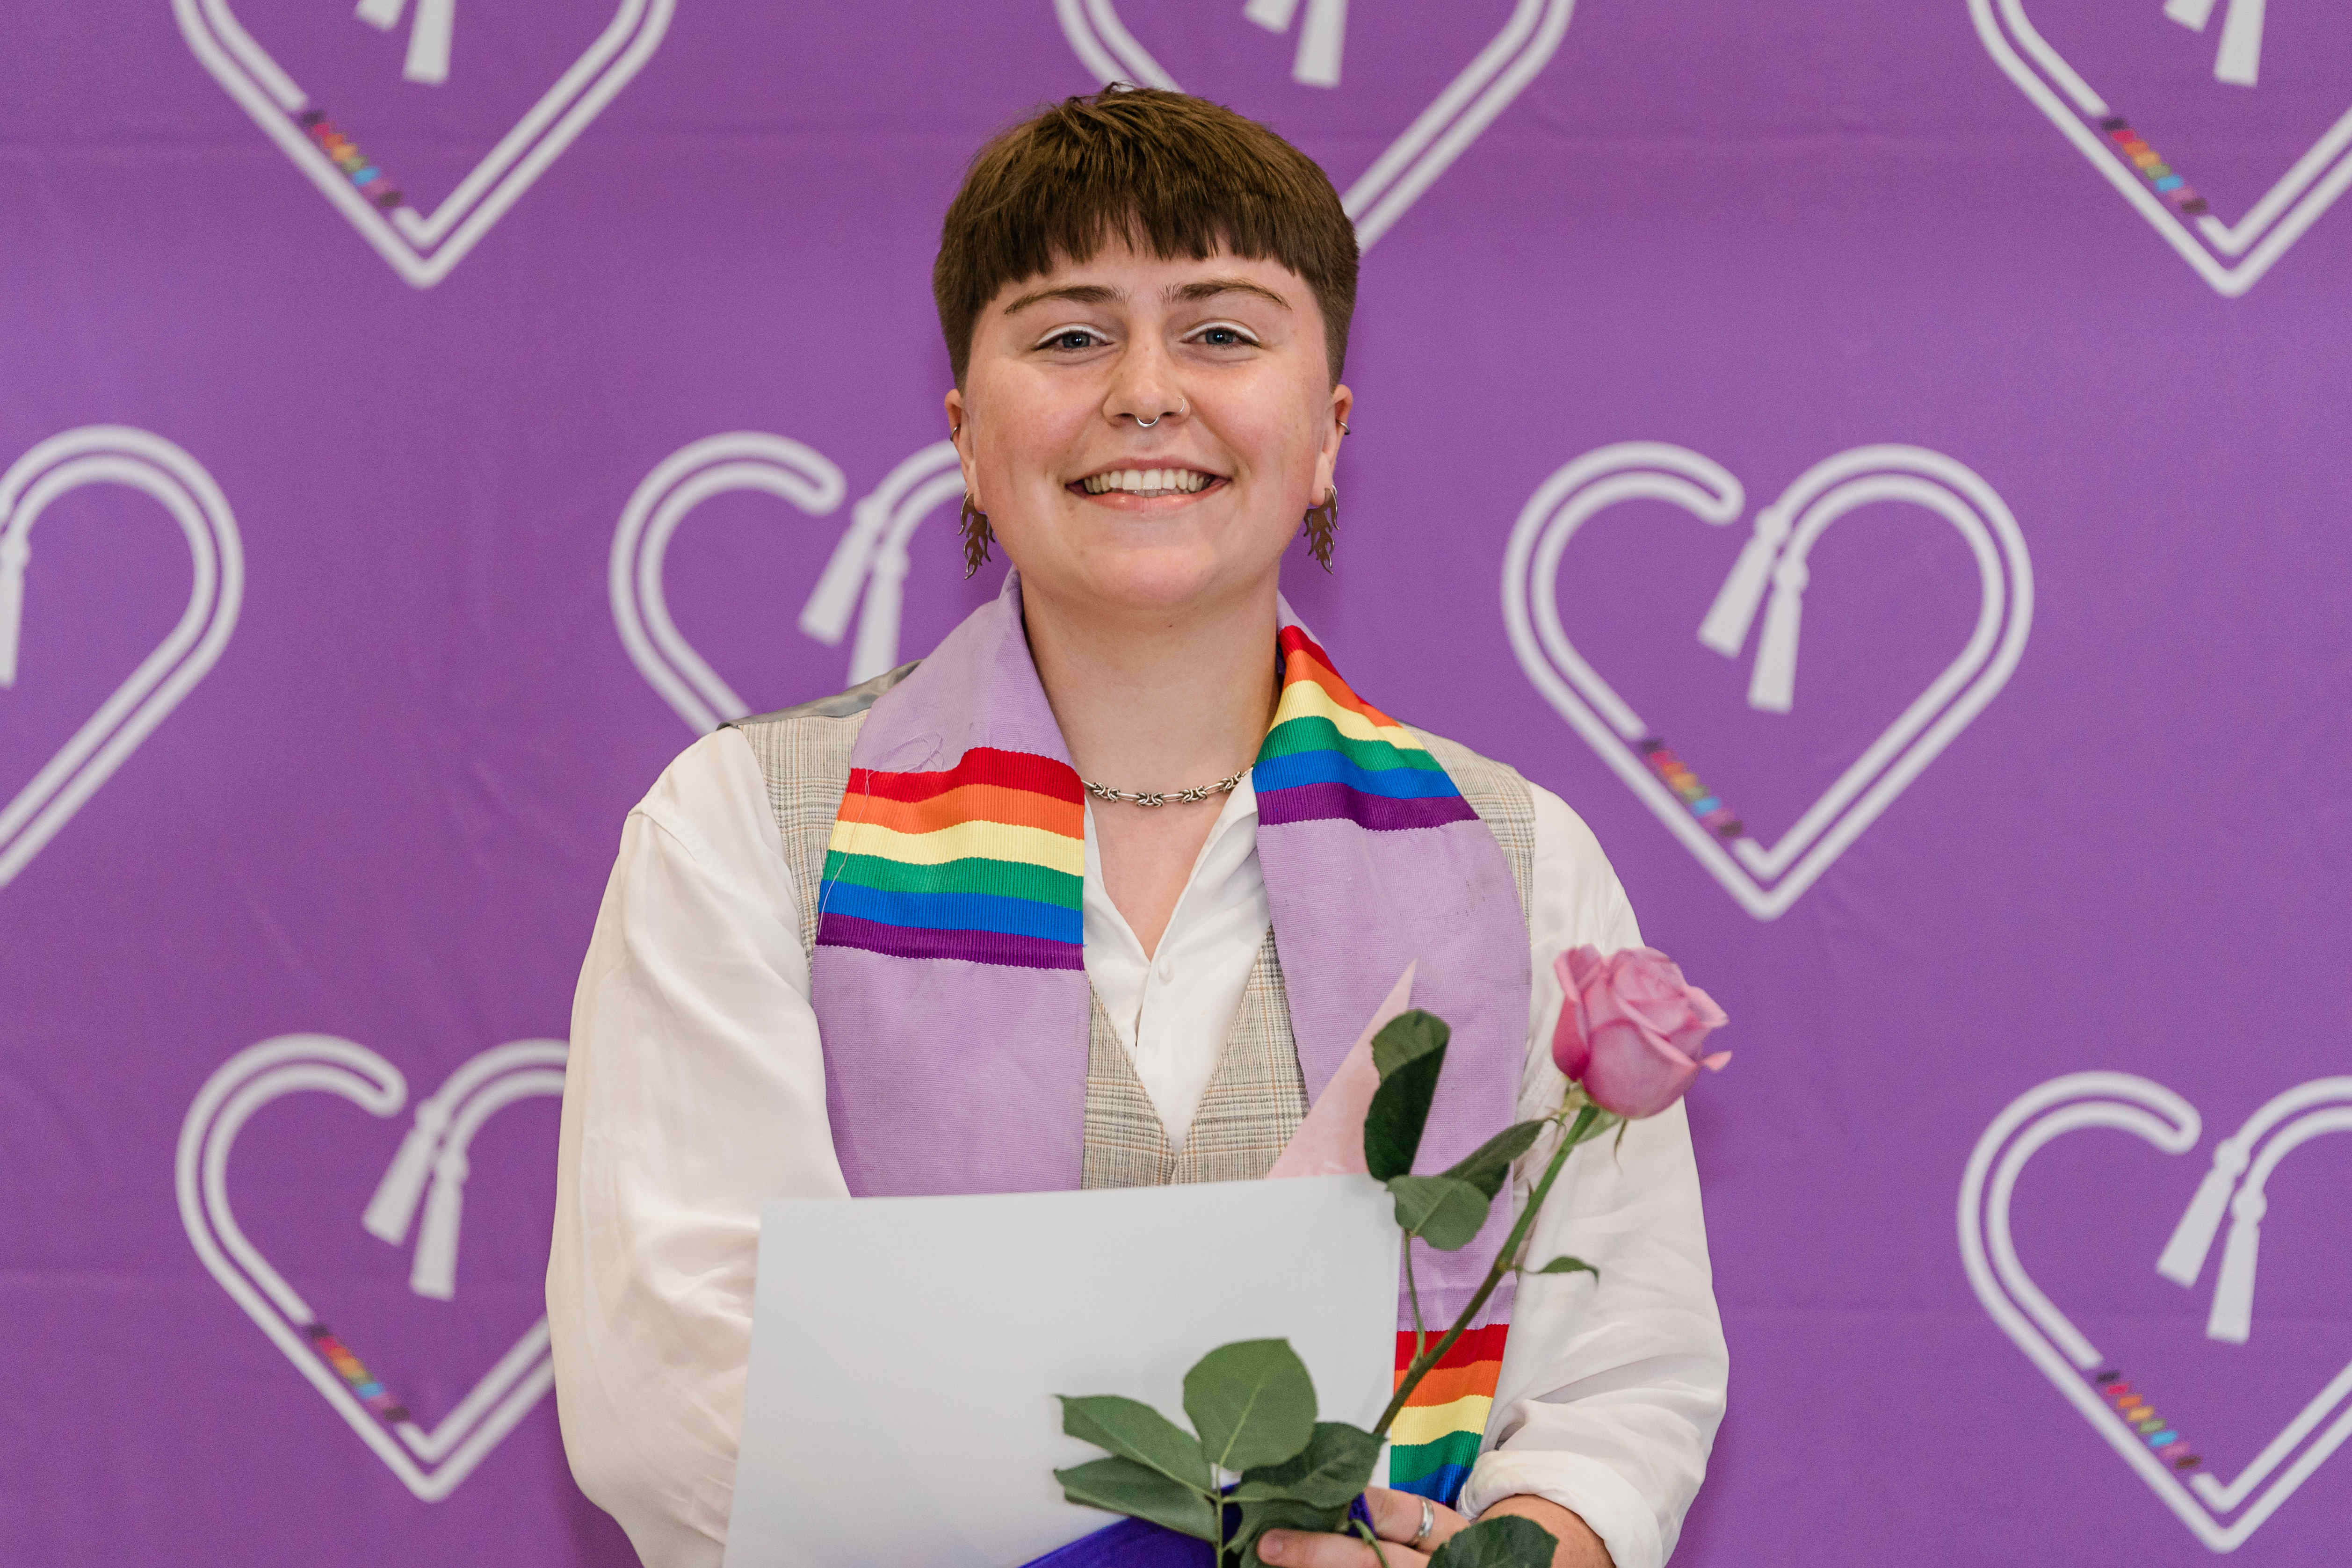
M 1592 832 L 1552 792 L 1536 790 L 1529 1016 L 1519 1114 L 1559 1105 L 1550 1034 L 1562 990 L 1552 959 L 1578 945 L 1637 947 L 1642 931 Z M 1519 1166 L 1526 1182 L 1550 1159 Z M 1583 1258 L 1592 1274 L 1526 1276 L 1512 1309 L 1494 1443 L 1463 1486 L 1475 1514 L 1515 1493 L 1573 1509 L 1606 1542 L 1616 1568 L 1658 1568 L 1708 1469 L 1724 1415 L 1729 1356 L 1715 1312 L 1698 1166 L 1682 1107 L 1635 1121 L 1623 1145 L 1602 1138 L 1569 1157 L 1536 1218 L 1529 1260 Z

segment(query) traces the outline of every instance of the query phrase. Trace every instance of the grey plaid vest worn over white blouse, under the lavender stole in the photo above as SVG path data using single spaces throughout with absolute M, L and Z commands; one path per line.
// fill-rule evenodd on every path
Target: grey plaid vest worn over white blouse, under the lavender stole
M 915 665 L 877 675 L 863 686 L 783 712 L 736 719 L 760 773 L 783 839 L 783 863 L 800 905 L 800 945 L 816 947 L 818 893 L 833 818 L 849 790 L 849 748 L 877 696 Z M 1425 731 L 1414 736 L 1454 778 L 1470 809 L 1494 832 L 1510 860 L 1510 879 L 1526 914 L 1536 865 L 1536 806 L 1526 780 L 1501 762 Z M 1308 1114 L 1308 1086 L 1291 1039 L 1291 1006 L 1282 992 L 1275 933 L 1258 945 L 1242 1006 L 1225 1032 L 1223 1053 L 1183 1147 L 1174 1147 L 1160 1112 L 1136 1077 L 1101 997 L 1087 1034 L 1087 1157 L 1082 1187 L 1152 1187 L 1162 1182 L 1230 1182 L 1265 1175 Z

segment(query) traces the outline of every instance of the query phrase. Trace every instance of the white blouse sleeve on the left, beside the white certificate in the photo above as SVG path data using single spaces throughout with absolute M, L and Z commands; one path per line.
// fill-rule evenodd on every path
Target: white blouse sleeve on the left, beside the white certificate
M 699 741 L 621 830 L 572 1004 L 548 1258 L 572 1476 L 649 1568 L 715 1568 L 760 1204 L 849 1197 L 760 764 Z

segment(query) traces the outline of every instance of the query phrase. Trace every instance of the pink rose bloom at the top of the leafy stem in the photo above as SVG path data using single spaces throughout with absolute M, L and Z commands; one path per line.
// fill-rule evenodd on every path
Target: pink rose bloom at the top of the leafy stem
M 1722 1070 L 1731 1060 L 1729 1051 L 1698 1053 L 1708 1030 L 1731 1020 L 1663 952 L 1625 947 L 1604 959 L 1599 947 L 1578 947 L 1562 952 L 1552 971 L 1569 994 L 1552 1030 L 1552 1060 L 1602 1110 L 1628 1121 L 1656 1117 L 1700 1067 Z

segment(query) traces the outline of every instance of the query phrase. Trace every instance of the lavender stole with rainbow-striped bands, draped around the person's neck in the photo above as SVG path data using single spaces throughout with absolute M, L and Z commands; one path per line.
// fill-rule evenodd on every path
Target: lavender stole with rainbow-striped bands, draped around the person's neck
M 1308 1098 L 1409 961 L 1454 1027 L 1418 1171 L 1512 1119 L 1529 952 L 1510 865 L 1454 780 L 1355 696 L 1284 604 L 1282 701 L 1254 764 L 1258 863 Z M 882 693 L 818 893 L 826 1114 L 856 1197 L 1077 1187 L 1084 1157 L 1084 792 L 1021 628 L 1021 578 Z M 1451 1321 L 1508 1229 L 1416 1260 Z M 1484 1312 L 1508 1316 L 1508 1286 Z M 1399 1326 L 1409 1324 L 1399 1300 Z

